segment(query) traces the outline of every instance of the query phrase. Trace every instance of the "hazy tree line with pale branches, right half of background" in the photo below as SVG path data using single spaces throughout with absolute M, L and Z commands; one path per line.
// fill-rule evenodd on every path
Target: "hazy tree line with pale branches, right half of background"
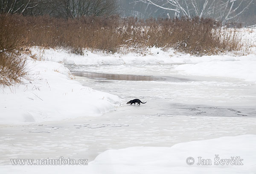
M 223 23 L 256 23 L 256 0 L 119 0 L 126 15 L 150 17 L 210 17 Z

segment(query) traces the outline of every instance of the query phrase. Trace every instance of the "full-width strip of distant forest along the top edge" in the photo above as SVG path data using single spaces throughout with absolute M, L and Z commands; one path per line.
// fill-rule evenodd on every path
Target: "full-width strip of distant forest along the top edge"
M 140 19 L 204 17 L 256 25 L 256 0 L 0 0 L 0 14 L 73 18 L 118 14 Z

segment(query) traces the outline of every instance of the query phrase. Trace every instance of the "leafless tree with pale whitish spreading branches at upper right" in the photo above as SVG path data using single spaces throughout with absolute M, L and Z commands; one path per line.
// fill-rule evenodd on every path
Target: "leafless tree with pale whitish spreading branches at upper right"
M 224 23 L 239 17 L 255 0 L 134 0 L 156 6 L 174 17 L 214 17 Z

